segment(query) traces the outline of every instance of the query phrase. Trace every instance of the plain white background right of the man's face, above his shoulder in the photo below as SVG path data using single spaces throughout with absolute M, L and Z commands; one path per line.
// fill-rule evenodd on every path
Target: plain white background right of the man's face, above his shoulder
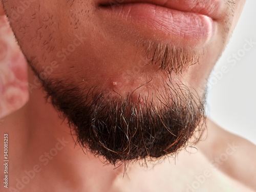
M 225 130 L 256 144 L 256 45 L 250 51 L 243 51 L 246 39 L 256 43 L 255 0 L 247 0 L 237 28 L 211 74 L 209 84 L 213 86 L 208 91 L 208 114 Z M 232 54 L 238 54 L 236 65 L 234 60 L 228 60 Z M 225 72 L 228 72 L 221 75 L 223 66 L 227 66 Z

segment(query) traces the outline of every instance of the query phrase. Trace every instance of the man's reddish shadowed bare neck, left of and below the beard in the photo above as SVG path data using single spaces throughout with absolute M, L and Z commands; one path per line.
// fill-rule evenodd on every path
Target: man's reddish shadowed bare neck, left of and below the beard
M 34 79 L 29 69 L 29 83 L 33 85 Z M 29 102 L 4 121 L 3 126 L 9 133 L 12 164 L 23 167 L 15 172 L 10 187 L 17 188 L 18 181 L 15 179 L 22 181 L 26 173 L 31 173 L 31 177 L 35 173 L 29 183 L 19 185 L 24 185 L 22 191 L 30 191 L 30 188 L 38 186 L 38 182 L 44 183 L 42 180 L 49 183 L 46 187 L 51 191 L 61 188 L 65 188 L 61 191 L 110 189 L 115 179 L 122 176 L 123 166 L 116 169 L 114 165 L 103 166 L 102 159 L 94 157 L 89 150 L 84 153 L 79 144 L 75 144 L 75 136 L 72 136 L 65 120 L 59 118 L 58 112 L 46 102 L 45 96 L 40 86 L 34 87 Z M 51 183 L 53 186 L 50 186 Z

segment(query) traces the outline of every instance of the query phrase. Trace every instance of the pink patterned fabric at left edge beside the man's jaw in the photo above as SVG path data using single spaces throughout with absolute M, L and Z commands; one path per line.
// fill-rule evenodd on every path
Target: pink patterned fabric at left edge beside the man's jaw
M 0 118 L 21 108 L 29 98 L 27 62 L 6 16 L 0 16 Z

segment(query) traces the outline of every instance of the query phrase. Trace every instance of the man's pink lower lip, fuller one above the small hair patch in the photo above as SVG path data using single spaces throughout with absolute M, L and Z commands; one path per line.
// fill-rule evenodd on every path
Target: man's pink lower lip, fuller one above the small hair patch
M 178 47 L 204 47 L 215 34 L 215 23 L 202 14 L 183 12 L 146 3 L 101 7 L 103 16 L 133 31 L 165 39 Z

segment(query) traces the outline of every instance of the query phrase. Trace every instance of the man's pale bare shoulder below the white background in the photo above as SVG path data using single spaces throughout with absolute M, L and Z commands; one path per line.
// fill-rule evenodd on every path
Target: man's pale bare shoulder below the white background
M 256 145 L 207 120 L 199 150 L 226 175 L 256 191 Z

